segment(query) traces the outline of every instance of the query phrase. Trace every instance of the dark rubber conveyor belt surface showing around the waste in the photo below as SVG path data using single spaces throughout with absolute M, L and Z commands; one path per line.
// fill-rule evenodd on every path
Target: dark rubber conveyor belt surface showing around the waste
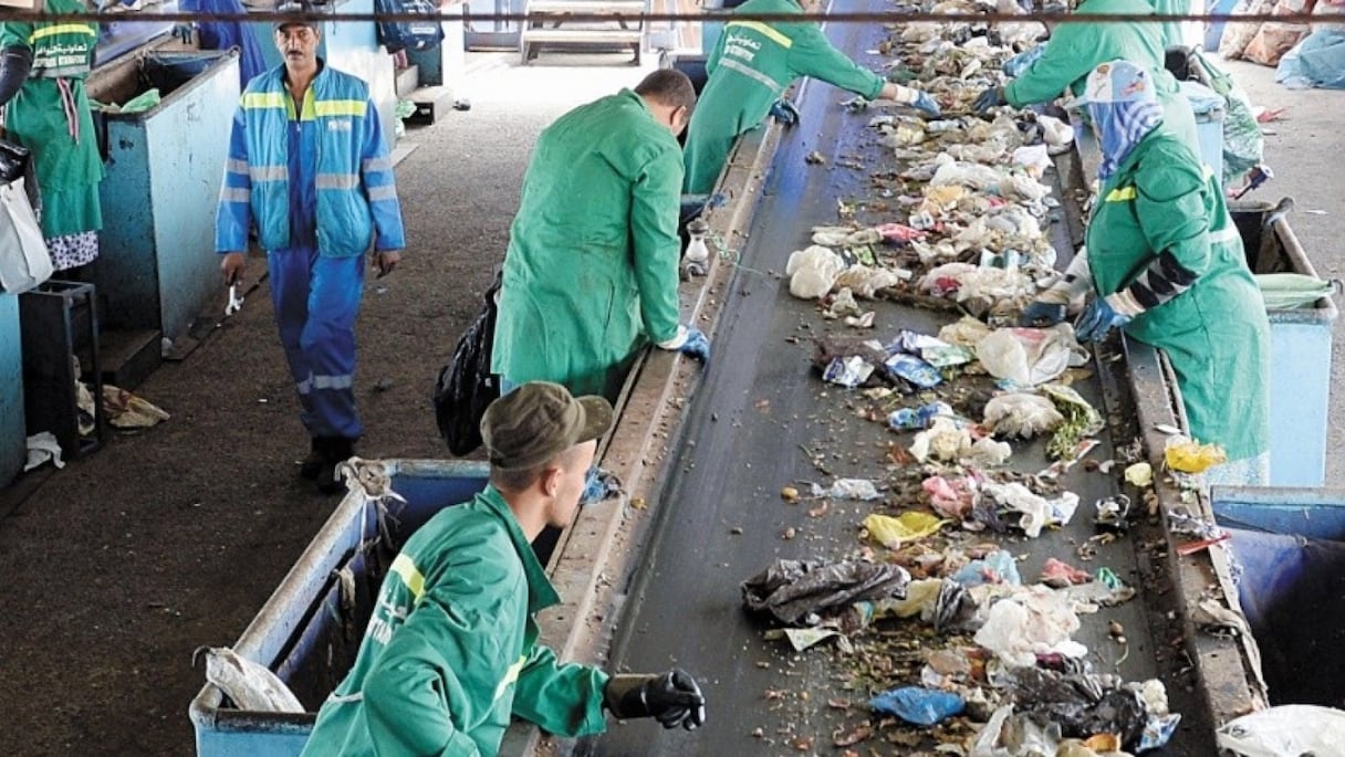
M 881 1 L 859 0 L 855 5 L 869 9 Z M 861 65 L 877 66 L 865 51 L 877 46 L 880 27 L 833 24 L 827 34 Z M 858 524 L 873 511 L 870 504 L 835 502 L 829 514 L 814 518 L 808 510 L 818 503 L 791 506 L 781 500 L 783 485 L 831 481 L 814 468 L 804 448 L 827 450 L 826 465 L 833 476 L 881 479 L 881 446 L 909 442 L 909 437 L 857 418 L 851 406 L 857 397 L 819 381 L 810 367 L 808 337 L 823 329 L 846 329 L 818 317 L 814 304 L 792 298 L 783 277 L 787 257 L 808 243 L 810 229 L 837 221 L 838 199 L 868 195 L 868 171 L 837 167 L 838 159 L 863 155 L 872 167 L 892 160 L 890 153 L 880 157 L 886 151 L 880 151 L 868 133 L 870 114 L 838 106 L 847 97 L 820 82 L 808 83 L 800 102 L 802 125 L 780 143 L 767 196 L 755 216 L 749 243 L 741 250 L 740 269 L 714 335 L 714 363 L 693 398 L 679 453 L 670 461 L 674 472 L 662 493 L 663 520 L 648 554 L 639 558 L 643 570 L 633 578 L 612 649 L 612 670 L 662 671 L 679 666 L 691 671 L 705 687 L 709 722 L 691 734 L 646 723 L 613 726 L 604 737 L 581 744 L 582 753 L 798 754 L 798 746 L 791 745 L 796 737 L 814 738 L 812 748 L 802 753 L 831 753 L 833 731 L 863 719 L 866 692 L 839 688 L 835 674 L 843 663 L 834 659 L 834 647 L 794 653 L 783 641 L 763 640 L 767 627 L 742 610 L 740 596 L 740 582 L 776 558 L 837 558 L 861 546 Z M 827 164 L 807 165 L 804 156 L 812 151 L 820 151 Z M 1056 225 L 1057 235 L 1064 233 L 1063 226 Z M 948 313 L 893 303 L 878 303 L 877 311 L 878 337 L 894 336 L 901 328 L 933 333 L 951 320 Z M 1076 385 L 1095 406 L 1100 406 L 1098 383 L 1092 379 Z M 1110 441 L 1102 441 L 1092 453 L 1096 460 L 1111 457 Z M 1045 468 L 1042 444 L 1015 442 L 1010 465 L 1026 472 Z M 1085 473 L 1080 465 L 1064 484 L 1081 500 L 1067 528 L 1048 531 L 1036 541 L 1006 539 L 1006 549 L 1022 558 L 1024 580 L 1034 581 L 1042 562 L 1059 557 L 1089 571 L 1108 566 L 1127 584 L 1138 584 L 1137 557 L 1127 539 L 1102 546 L 1091 562 L 1076 557 L 1077 545 L 1093 535 L 1092 503 L 1115 492 L 1111 477 Z M 800 489 L 807 485 L 800 484 Z M 798 536 L 785 541 L 781 534 L 790 527 Z M 1084 628 L 1075 639 L 1089 648 L 1096 670 L 1119 672 L 1127 680 L 1158 675 L 1143 601 L 1081 620 Z M 1128 653 L 1107 637 L 1108 620 L 1126 628 Z M 1124 662 L 1116 667 L 1122 656 Z M 768 698 L 768 691 L 781 694 Z M 807 699 L 800 696 L 803 692 Z M 1170 694 L 1176 709 L 1181 694 Z M 829 699 L 842 696 L 854 702 L 851 711 L 827 706 Z M 1188 727 L 1190 719 L 1161 753 L 1188 753 L 1180 744 L 1186 738 L 1182 734 L 1200 730 Z M 869 748 L 909 752 L 878 740 L 855 745 L 861 753 Z

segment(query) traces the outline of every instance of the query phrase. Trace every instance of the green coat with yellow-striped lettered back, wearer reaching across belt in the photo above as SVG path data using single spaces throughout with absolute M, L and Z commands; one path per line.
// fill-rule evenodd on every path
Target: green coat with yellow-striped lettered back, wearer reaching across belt
M 687 194 L 706 194 L 733 141 L 757 128 L 799 77 L 812 77 L 873 99 L 885 83 L 827 42 L 795 0 L 748 0 L 733 11 L 796 13 L 798 23 L 729 22 L 706 61 L 710 74 L 686 130 Z

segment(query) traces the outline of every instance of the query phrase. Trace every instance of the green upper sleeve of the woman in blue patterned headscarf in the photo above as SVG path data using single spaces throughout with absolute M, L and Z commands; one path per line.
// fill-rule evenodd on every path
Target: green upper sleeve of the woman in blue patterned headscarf
M 1135 173 L 1135 215 L 1155 255 L 1169 254 L 1194 277 L 1209 270 L 1205 176 L 1189 151 L 1159 145 L 1145 156 Z

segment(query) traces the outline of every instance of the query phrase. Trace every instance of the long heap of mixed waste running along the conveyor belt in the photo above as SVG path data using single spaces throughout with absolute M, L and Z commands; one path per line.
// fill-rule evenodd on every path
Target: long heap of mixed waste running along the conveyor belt
M 997 8 L 944 0 L 923 9 Z M 814 329 L 819 393 L 842 387 L 847 407 L 898 440 L 870 477 L 781 487 L 787 503 L 822 502 L 819 514 L 839 500 L 872 506 L 846 554 L 779 559 L 742 584 L 767 639 L 795 653 L 831 649 L 843 688 L 866 702 L 827 702 L 863 715 L 831 733 L 842 754 L 886 742 L 971 757 L 1118 756 L 1161 748 L 1181 719 L 1161 680 L 1114 672 L 1130 653 L 1122 624 L 1103 621 L 1106 649 L 1075 637 L 1085 617 L 1137 596 L 1112 569 L 1087 563 L 1135 516 L 1157 516 L 1157 499 L 1149 492 L 1132 508 L 1122 493 L 1085 503 L 1069 491 L 1076 465 L 1124 477 L 1132 491 L 1153 471 L 1137 450 L 1089 457 L 1106 422 L 1076 390 L 1092 368 L 1072 327 L 1017 325 L 1057 276 L 1052 155 L 1069 148 L 1072 128 L 1009 108 L 979 117 L 970 105 L 1042 31 L 890 28 L 880 48 L 889 79 L 917 82 L 944 116 L 850 102 L 869 117 L 878 159 L 842 168 L 866 169 L 872 195 L 841 202 L 837 222 L 812 229 L 785 270 L 790 293 L 815 300 L 823 320 Z M 884 323 L 888 301 L 951 316 L 921 333 Z M 1015 468 L 1025 445 L 1044 446 L 1048 464 Z M 1217 461 L 1189 440 L 1174 449 L 1182 471 Z M 1083 516 L 1092 538 L 1061 541 L 1040 575 L 1020 573 L 1013 545 Z M 791 741 L 802 752 L 815 742 Z

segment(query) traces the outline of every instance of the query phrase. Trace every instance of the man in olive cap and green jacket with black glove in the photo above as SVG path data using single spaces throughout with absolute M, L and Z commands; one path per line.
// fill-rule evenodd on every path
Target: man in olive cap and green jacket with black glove
M 560 597 L 530 542 L 573 522 L 611 425 L 605 399 L 546 382 L 487 407 L 490 485 L 421 526 L 393 561 L 305 756 L 491 756 L 511 715 L 573 737 L 601 733 L 604 707 L 663 727 L 705 722 L 705 698 L 681 670 L 609 676 L 537 644 L 533 616 Z

